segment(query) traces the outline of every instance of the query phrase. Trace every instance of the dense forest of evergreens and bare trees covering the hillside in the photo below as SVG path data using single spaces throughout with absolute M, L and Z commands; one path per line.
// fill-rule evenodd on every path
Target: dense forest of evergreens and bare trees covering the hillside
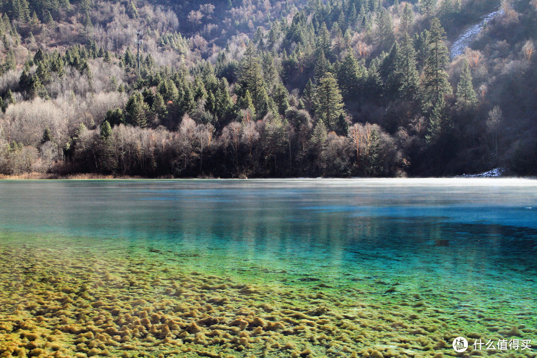
M 537 174 L 537 0 L 0 0 L 0 12 L 0 174 Z

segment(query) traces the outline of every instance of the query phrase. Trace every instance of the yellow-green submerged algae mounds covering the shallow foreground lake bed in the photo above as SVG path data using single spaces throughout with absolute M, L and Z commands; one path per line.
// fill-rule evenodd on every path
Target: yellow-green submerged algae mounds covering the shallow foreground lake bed
M 151 254 L 0 246 L 0 356 L 440 358 L 485 353 L 456 353 L 459 335 L 536 339 L 535 306 L 505 315 L 502 305 L 516 305 L 484 295 L 468 304 L 463 290 L 301 281 L 261 267 L 232 276 Z

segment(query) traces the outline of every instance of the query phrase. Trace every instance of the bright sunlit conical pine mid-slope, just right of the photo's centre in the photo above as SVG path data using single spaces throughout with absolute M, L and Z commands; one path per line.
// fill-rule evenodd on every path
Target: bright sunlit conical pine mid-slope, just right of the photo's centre
M 324 122 L 330 130 L 335 129 L 336 121 L 343 113 L 343 98 L 332 74 L 326 74 L 319 79 L 313 104 L 318 120 Z

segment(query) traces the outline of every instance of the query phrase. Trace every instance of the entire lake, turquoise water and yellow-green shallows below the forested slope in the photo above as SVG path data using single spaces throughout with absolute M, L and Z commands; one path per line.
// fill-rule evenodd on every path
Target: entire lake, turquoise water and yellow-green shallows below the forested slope
M 535 180 L 4 180 L 0 254 L 2 357 L 537 352 Z

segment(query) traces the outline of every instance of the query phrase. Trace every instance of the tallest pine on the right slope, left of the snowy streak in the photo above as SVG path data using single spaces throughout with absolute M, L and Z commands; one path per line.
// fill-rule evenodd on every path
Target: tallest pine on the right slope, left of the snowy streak
M 424 107 L 434 105 L 436 100 L 444 97 L 444 94 L 452 93 L 447 75 L 447 65 L 449 63 L 447 47 L 444 44 L 446 39 L 444 29 L 440 25 L 438 18 L 431 20 L 431 31 L 429 31 L 429 42 L 427 46 L 427 58 L 423 76 L 424 87 Z

